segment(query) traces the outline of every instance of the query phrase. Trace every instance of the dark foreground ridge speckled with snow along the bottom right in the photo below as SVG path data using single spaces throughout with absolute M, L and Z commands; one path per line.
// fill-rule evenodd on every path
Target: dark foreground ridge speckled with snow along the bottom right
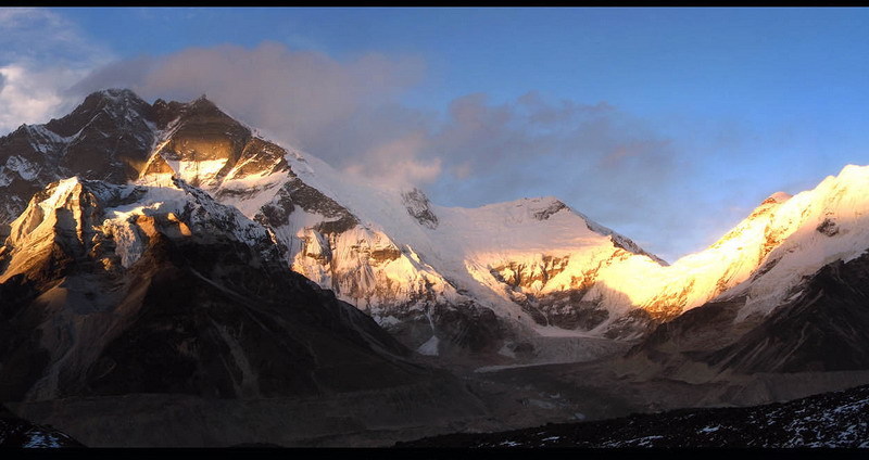
M 395 447 L 869 447 L 869 385 L 789 403 L 679 409 L 501 433 L 426 437 Z

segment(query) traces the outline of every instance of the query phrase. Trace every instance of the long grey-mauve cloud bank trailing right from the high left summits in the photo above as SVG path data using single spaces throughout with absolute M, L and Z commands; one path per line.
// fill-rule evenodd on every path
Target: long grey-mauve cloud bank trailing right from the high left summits
M 401 105 L 399 97 L 424 74 L 425 63 L 414 56 L 371 53 L 339 62 L 264 42 L 253 49 L 190 48 L 114 63 L 71 92 L 80 98 L 97 89 L 130 87 L 148 100 L 204 93 L 266 135 L 380 181 L 428 184 L 496 176 L 528 186 L 533 165 L 545 167 L 553 159 L 569 162 L 578 174 L 600 169 L 630 176 L 633 168 L 655 173 L 650 178 L 666 176 L 666 140 L 606 103 L 553 103 L 529 92 L 499 104 L 484 93 L 468 94 L 441 113 Z M 563 177 L 565 168 L 558 169 Z M 515 195 L 491 193 L 498 196 L 487 199 Z

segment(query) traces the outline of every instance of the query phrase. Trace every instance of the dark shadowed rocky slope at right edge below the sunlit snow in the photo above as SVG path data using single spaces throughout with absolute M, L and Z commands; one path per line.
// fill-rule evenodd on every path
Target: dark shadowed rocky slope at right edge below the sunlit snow
M 806 277 L 769 316 L 735 321 L 743 303 L 687 311 L 658 327 L 629 357 L 646 357 L 676 373 L 691 361 L 743 374 L 869 369 L 869 254 Z

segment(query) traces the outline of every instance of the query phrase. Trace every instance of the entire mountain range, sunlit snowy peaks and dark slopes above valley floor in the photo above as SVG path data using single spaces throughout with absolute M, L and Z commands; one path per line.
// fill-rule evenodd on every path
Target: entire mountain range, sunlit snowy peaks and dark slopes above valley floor
M 848 165 L 667 264 L 556 197 L 439 206 L 204 97 L 98 91 L 0 138 L 0 400 L 438 381 L 469 414 L 479 398 L 437 366 L 865 370 L 867 190 Z

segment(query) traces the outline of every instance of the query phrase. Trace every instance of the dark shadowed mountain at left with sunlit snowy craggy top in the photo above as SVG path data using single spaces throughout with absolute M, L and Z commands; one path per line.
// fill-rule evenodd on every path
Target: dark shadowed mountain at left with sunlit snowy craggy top
M 262 227 L 182 182 L 62 181 L 12 228 L 0 400 L 318 395 L 427 376 L 369 317 L 282 265 Z

